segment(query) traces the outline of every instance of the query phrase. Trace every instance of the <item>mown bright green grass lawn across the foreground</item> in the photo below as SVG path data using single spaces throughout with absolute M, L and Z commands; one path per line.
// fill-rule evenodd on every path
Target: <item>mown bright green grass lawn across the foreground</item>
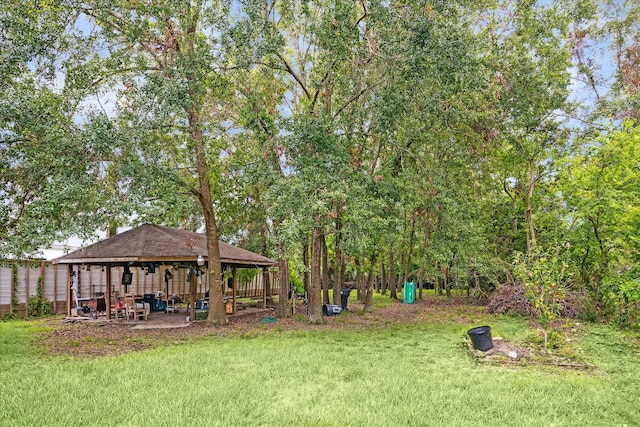
M 520 319 L 473 316 L 494 336 L 530 334 Z M 45 356 L 34 345 L 40 324 L 4 322 L 0 425 L 640 424 L 640 356 L 625 334 L 585 327 L 579 348 L 594 371 L 503 367 L 469 356 L 476 325 L 455 317 L 207 337 L 90 360 Z

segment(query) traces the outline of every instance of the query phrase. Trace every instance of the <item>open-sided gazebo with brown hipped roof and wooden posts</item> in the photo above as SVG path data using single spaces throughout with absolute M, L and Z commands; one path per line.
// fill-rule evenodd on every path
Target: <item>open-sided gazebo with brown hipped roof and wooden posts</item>
M 231 288 L 233 289 L 232 303 L 233 312 L 236 310 L 236 290 L 238 268 L 259 268 L 263 271 L 263 276 L 267 275 L 268 268 L 276 262 L 270 258 L 258 255 L 254 252 L 237 248 L 230 244 L 219 242 L 220 261 L 222 270 L 231 270 Z M 143 224 L 137 228 L 117 234 L 113 237 L 94 243 L 86 248 L 71 252 L 60 258 L 53 260 L 54 264 L 66 264 L 69 268 L 67 286 L 67 314 L 71 314 L 71 280 L 74 276 L 74 266 L 86 266 L 89 270 L 91 266 L 101 266 L 106 273 L 106 289 L 104 292 L 107 318 L 111 317 L 111 295 L 113 291 L 112 270 L 122 270 L 122 281 L 118 287 L 123 285 L 125 290 L 131 284 L 131 269 L 140 268 L 146 274 L 164 270 L 165 280 L 168 287 L 171 270 L 184 267 L 189 270 L 189 274 L 195 272 L 196 276 L 206 270 L 207 256 L 206 236 L 185 230 L 164 227 L 153 224 Z M 205 275 L 206 277 L 206 275 Z M 186 279 L 189 282 L 189 278 Z M 266 286 L 263 282 L 262 304 L 266 305 Z M 190 285 L 189 300 L 191 316 L 194 318 L 196 286 Z

